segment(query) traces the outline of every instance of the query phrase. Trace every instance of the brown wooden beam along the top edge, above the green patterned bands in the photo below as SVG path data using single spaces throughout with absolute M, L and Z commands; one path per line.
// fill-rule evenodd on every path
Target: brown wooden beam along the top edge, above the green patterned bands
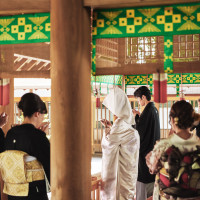
M 169 5 L 199 2 L 199 0 L 83 0 L 84 6 L 117 8 L 150 5 Z M 1 0 L 0 15 L 50 12 L 50 0 Z

